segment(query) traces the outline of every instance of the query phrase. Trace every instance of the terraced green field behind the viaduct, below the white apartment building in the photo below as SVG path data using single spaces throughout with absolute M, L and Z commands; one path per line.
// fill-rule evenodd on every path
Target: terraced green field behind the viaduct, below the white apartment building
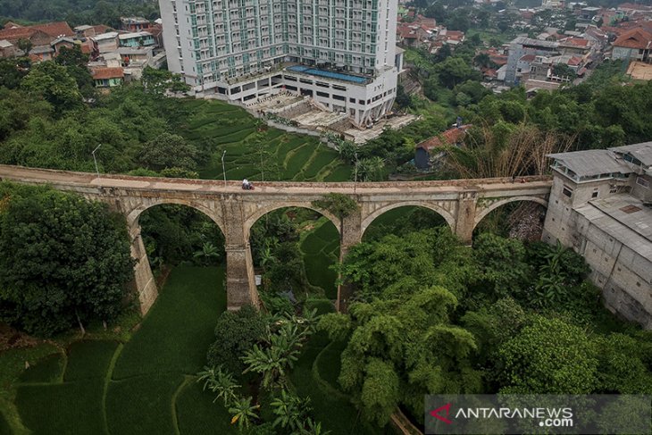
M 317 138 L 272 128 L 258 131 L 260 121 L 244 109 L 222 101 L 184 101 L 190 115 L 180 135 L 209 149 L 209 161 L 199 170 L 203 179 L 223 178 L 224 150 L 229 180 L 262 180 L 263 175 L 267 181 L 350 179 L 351 166 Z

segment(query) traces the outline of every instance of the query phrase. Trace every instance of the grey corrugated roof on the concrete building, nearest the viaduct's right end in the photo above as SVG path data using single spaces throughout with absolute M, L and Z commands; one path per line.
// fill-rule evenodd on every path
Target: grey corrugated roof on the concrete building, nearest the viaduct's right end
M 599 175 L 601 173 L 630 173 L 625 163 L 616 160 L 615 155 L 606 149 L 590 149 L 574 151 L 573 153 L 557 153 L 548 155 L 581 177 Z

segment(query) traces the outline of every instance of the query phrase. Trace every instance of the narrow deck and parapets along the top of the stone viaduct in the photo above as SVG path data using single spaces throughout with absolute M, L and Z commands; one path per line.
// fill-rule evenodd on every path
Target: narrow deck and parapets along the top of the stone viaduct
M 146 189 L 158 191 L 187 191 L 205 192 L 209 194 L 242 192 L 239 181 L 222 180 L 188 180 L 166 179 L 155 177 L 134 177 L 120 174 L 100 174 L 90 172 L 55 171 L 46 169 L 25 168 L 21 166 L 0 165 L 0 180 L 21 180 L 35 183 L 52 183 L 75 185 L 88 188 L 126 188 Z M 511 190 L 523 188 L 549 188 L 551 177 L 535 176 L 496 179 L 467 179 L 467 180 L 437 180 L 437 181 L 382 181 L 372 183 L 354 182 L 295 182 L 272 181 L 255 182 L 254 193 L 283 194 L 312 193 L 321 194 L 339 192 L 344 194 L 378 194 L 400 193 L 409 191 L 421 192 L 460 192 L 464 190 Z M 249 192 L 247 192 L 249 193 Z

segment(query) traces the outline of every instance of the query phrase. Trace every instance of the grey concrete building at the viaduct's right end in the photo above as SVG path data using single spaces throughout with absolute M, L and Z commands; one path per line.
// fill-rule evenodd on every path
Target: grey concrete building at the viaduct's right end
M 652 142 L 550 157 L 543 239 L 584 256 L 606 307 L 652 329 Z

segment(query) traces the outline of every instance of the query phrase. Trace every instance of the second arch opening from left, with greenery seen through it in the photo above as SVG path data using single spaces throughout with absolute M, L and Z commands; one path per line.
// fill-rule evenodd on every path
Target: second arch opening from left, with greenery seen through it
M 246 225 L 256 276 L 264 295 L 337 299 L 339 229 L 334 216 L 313 207 L 274 207 Z

